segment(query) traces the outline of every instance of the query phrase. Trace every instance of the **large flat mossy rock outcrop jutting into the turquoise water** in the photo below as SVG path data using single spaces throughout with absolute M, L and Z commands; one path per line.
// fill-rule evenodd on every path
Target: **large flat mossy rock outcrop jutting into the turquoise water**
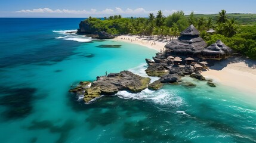
M 70 89 L 70 92 L 84 95 L 84 101 L 90 102 L 101 95 L 113 95 L 118 91 L 141 92 L 147 88 L 149 82 L 149 77 L 141 77 L 130 71 L 121 71 L 97 77 L 97 80 L 92 83 L 81 82 L 78 87 Z

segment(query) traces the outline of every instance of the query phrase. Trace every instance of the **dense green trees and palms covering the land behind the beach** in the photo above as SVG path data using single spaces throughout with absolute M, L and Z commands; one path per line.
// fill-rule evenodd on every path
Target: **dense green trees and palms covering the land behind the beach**
M 165 17 L 162 11 L 158 11 L 156 16 L 150 13 L 147 18 L 122 18 L 121 15 L 114 15 L 104 17 L 104 20 L 90 17 L 83 22 L 88 23 L 92 29 L 113 35 L 157 35 L 165 39 L 177 38 L 181 31 L 193 24 L 208 45 L 221 39 L 236 52 L 256 59 L 256 14 L 226 14 L 225 10 L 221 10 L 219 14 L 192 12 L 185 15 L 183 11 L 177 11 Z M 207 33 L 209 29 L 216 32 Z

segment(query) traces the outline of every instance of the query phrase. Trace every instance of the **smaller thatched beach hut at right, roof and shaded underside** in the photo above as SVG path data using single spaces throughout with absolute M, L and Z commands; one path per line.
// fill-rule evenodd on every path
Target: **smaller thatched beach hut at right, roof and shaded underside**
M 212 45 L 202 50 L 201 58 L 203 60 L 221 60 L 229 58 L 232 54 L 232 49 L 226 46 L 223 42 L 218 40 Z

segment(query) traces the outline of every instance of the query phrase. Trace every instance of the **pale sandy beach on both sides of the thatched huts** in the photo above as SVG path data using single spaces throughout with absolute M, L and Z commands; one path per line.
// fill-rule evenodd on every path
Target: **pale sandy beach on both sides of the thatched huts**
M 142 38 L 140 36 L 118 36 L 117 41 L 131 42 L 161 51 L 169 40 L 157 38 Z M 154 44 L 152 44 L 154 43 Z M 214 82 L 230 86 L 242 92 L 256 96 L 256 61 L 245 58 L 230 58 L 216 62 L 208 71 L 202 71 L 203 76 Z

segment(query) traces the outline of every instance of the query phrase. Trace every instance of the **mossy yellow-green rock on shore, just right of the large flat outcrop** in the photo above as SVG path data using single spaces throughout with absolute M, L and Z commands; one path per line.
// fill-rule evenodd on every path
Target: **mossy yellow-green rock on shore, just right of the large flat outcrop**
M 168 70 L 162 64 L 150 64 L 145 71 L 149 76 L 161 77 L 168 74 Z

